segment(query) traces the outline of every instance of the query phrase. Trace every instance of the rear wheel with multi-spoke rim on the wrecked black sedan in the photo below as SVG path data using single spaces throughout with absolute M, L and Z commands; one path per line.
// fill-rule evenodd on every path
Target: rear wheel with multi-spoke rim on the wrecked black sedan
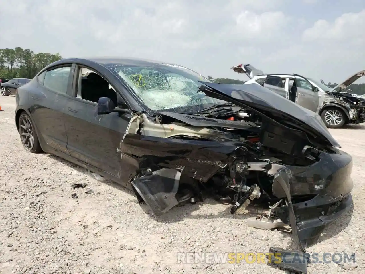
M 35 132 L 34 125 L 25 111 L 20 114 L 18 125 L 20 141 L 22 141 L 24 149 L 32 153 L 42 152 L 37 132 Z

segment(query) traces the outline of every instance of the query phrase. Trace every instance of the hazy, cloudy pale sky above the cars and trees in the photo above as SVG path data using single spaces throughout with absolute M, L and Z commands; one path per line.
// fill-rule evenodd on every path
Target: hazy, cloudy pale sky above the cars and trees
M 0 48 L 149 58 L 242 80 L 231 66 L 326 83 L 365 69 L 364 0 L 0 0 L 0 7 Z

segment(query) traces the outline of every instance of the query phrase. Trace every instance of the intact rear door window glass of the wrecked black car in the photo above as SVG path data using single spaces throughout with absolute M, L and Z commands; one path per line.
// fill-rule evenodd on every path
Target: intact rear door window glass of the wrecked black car
M 70 71 L 70 66 L 47 71 L 43 81 L 43 86 L 52 91 L 67 94 Z

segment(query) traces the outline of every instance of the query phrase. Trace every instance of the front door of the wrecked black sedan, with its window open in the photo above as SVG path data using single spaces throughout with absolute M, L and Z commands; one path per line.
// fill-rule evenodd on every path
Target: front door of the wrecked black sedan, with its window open
M 88 76 L 82 77 L 83 71 L 88 71 Z M 123 99 L 110 89 L 100 73 L 89 72 L 86 68 L 75 69 L 74 96 L 66 107 L 67 148 L 74 158 L 120 178 L 119 145 L 131 117 L 119 113 L 97 114 L 100 97 L 110 97 L 115 104 Z

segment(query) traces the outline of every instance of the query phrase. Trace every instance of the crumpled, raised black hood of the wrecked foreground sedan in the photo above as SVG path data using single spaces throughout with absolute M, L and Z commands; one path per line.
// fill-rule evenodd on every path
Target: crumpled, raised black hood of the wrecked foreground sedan
M 230 85 L 199 82 L 211 89 L 203 91 L 207 96 L 222 100 L 228 99 L 230 102 L 238 105 L 241 104 L 243 105 L 242 107 L 249 107 L 260 114 L 269 111 L 272 114 L 284 116 L 293 121 L 293 123 L 300 125 L 301 130 L 304 132 L 325 140 L 335 147 L 341 147 L 332 137 L 318 114 L 291 102 L 267 88 L 257 84 Z M 278 115 L 272 115 L 269 118 L 280 123 L 280 120 L 277 119 Z

